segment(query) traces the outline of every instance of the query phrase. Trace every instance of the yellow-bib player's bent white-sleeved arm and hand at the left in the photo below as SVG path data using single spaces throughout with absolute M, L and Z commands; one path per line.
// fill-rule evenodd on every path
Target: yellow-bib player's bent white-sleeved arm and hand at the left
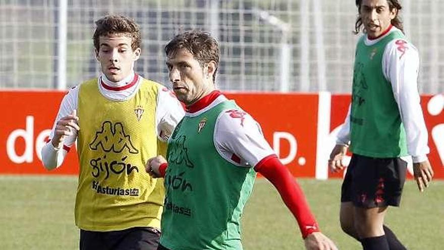
M 48 169 L 62 165 L 80 129 L 77 123 L 78 87 L 70 89 L 65 95 L 55 118 L 48 142 L 42 147 L 42 163 Z

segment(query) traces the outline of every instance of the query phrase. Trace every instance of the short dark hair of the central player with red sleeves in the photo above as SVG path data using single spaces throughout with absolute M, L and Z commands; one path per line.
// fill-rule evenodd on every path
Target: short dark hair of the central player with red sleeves
M 199 30 L 181 32 L 165 46 L 165 54 L 169 56 L 171 53 L 176 53 L 180 48 L 186 48 L 201 67 L 211 61 L 216 62 L 213 74 L 213 82 L 215 81 L 217 66 L 219 65 L 219 45 L 208 32 Z

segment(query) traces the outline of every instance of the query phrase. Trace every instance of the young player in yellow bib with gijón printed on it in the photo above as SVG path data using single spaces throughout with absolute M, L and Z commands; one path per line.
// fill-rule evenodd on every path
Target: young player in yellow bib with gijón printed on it
M 124 16 L 96 22 L 101 74 L 70 89 L 42 149 L 47 169 L 62 165 L 77 139 L 80 165 L 75 221 L 80 249 L 156 249 L 163 182 L 144 170 L 164 154 L 184 111 L 162 85 L 134 73 L 139 26 Z

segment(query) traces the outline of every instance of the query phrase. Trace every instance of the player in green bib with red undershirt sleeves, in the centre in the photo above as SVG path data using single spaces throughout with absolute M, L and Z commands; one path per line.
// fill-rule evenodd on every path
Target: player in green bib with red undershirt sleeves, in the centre
M 257 172 L 280 192 L 307 249 L 337 249 L 319 232 L 302 190 L 259 124 L 215 90 L 215 39 L 184 32 L 165 46 L 165 54 L 174 92 L 187 110 L 169 139 L 168 164 L 159 156 L 146 165 L 152 176 L 164 177 L 158 249 L 242 249 L 241 216 Z

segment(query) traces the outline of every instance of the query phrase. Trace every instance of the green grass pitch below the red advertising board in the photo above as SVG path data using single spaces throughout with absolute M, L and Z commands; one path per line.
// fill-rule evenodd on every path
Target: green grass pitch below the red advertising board
M 339 225 L 341 180 L 299 179 L 321 230 L 340 249 L 361 249 Z M 0 248 L 78 249 L 74 225 L 77 177 L 0 176 Z M 444 181 L 424 193 L 407 181 L 401 208 L 390 208 L 386 224 L 410 250 L 444 249 Z M 304 249 L 295 219 L 279 193 L 256 180 L 243 216 L 244 249 Z

